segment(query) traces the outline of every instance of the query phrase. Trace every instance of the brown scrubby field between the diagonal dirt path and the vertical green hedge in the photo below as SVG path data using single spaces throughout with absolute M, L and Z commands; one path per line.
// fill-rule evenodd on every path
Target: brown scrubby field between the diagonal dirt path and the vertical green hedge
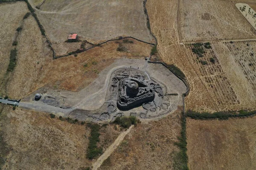
M 180 169 L 174 145 L 180 135 L 181 107 L 159 121 L 138 124 L 117 149 L 106 159 L 100 170 L 173 170 Z

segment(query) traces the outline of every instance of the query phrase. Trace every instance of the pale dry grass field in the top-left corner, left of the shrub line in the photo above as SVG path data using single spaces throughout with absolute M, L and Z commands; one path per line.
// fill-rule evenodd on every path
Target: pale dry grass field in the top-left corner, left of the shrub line
M 0 36 L 2 37 L 0 41 L 0 87 L 3 85 L 3 77 L 9 65 L 10 51 L 17 32 L 16 29 L 20 26 L 23 16 L 27 12 L 24 2 L 0 3 Z

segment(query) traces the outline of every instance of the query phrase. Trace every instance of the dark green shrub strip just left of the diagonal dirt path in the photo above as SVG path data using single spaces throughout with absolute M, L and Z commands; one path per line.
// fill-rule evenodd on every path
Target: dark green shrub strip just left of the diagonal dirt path
M 88 159 L 94 159 L 97 156 L 102 154 L 102 148 L 97 147 L 97 143 L 99 142 L 99 135 L 100 135 L 99 133 L 100 125 L 88 123 L 87 126 L 90 127 L 91 132 L 90 132 L 86 157 Z

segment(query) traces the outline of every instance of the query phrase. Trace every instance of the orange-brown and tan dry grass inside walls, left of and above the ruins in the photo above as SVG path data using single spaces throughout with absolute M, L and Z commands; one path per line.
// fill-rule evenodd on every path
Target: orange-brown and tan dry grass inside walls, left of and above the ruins
M 30 22 L 34 24 L 34 20 L 29 18 L 24 29 L 26 24 L 27 26 L 32 24 Z M 20 38 L 26 36 L 30 29 L 34 29 L 34 27 L 22 31 Z M 25 97 L 45 85 L 51 88 L 79 91 L 93 82 L 98 73 L 110 65 L 114 59 L 122 57 L 144 58 L 149 55 L 151 49 L 151 45 L 127 39 L 133 43 L 125 43 L 124 40 L 108 42 L 100 47 L 80 53 L 77 57 L 72 55 L 52 60 L 49 48 L 45 47 L 47 45 L 45 39 L 42 40 L 43 37 L 39 32 L 39 40 L 36 36 L 31 37 L 31 39 L 27 38 L 26 41 L 20 40 L 20 46 L 17 47 L 17 66 L 14 78 L 9 83 L 8 88 L 8 95 L 12 98 Z M 27 48 L 32 43 L 38 43 L 38 46 L 33 47 L 34 51 L 29 51 Z M 116 50 L 119 46 L 123 47 L 123 51 Z M 27 56 L 31 57 L 25 58 Z M 20 74 L 20 72 L 24 74 Z

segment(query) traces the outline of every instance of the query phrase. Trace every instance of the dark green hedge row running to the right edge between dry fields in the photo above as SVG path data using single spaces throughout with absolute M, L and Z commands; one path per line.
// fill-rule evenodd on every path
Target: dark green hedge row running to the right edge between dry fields
M 187 111 L 186 116 L 192 119 L 229 119 L 235 117 L 247 117 L 256 114 L 256 111 L 238 111 L 238 112 L 214 112 L 214 113 L 199 113 L 195 111 Z

